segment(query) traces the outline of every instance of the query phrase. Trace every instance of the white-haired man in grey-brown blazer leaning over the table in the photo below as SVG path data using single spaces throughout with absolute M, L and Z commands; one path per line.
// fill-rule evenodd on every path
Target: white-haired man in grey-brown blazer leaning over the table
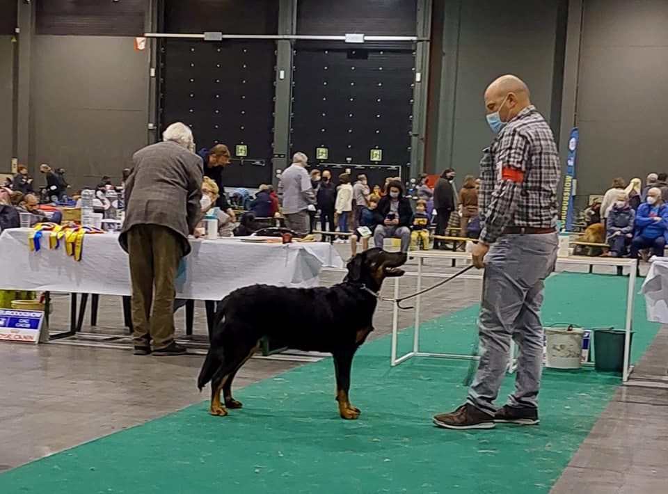
M 130 262 L 135 355 L 186 353 L 174 342 L 172 308 L 177 269 L 190 253 L 188 235 L 197 234 L 202 216 L 202 159 L 183 123 L 167 127 L 162 138 L 134 154 L 125 182 L 119 241 Z

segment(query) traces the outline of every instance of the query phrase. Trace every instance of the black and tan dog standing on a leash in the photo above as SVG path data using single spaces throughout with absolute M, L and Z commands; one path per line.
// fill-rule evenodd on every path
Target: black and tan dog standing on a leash
M 255 285 L 223 298 L 197 381 L 200 390 L 211 381 L 211 414 L 241 408 L 232 398 L 232 379 L 259 349 L 260 338 L 269 337 L 291 349 L 331 353 L 339 413 L 344 419 L 358 418 L 360 411 L 348 398 L 350 369 L 358 346 L 374 330 L 377 302 L 363 287 L 379 292 L 386 277 L 404 274 L 399 266 L 405 262 L 406 254 L 373 248 L 353 257 L 346 278 L 331 288 Z

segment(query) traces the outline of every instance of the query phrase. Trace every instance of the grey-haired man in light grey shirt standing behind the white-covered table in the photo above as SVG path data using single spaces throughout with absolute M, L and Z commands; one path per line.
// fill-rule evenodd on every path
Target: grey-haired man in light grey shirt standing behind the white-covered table
M 300 235 L 308 234 L 308 212 L 315 211 L 315 192 L 306 171 L 307 164 L 308 157 L 296 152 L 292 165 L 286 168 L 278 183 L 278 202 L 283 209 L 285 226 Z

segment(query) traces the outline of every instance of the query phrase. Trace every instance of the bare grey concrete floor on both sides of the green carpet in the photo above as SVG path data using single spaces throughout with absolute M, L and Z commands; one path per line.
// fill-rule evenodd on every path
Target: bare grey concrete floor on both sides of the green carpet
M 348 246 L 337 248 L 347 257 Z M 584 269 L 580 266 L 570 270 Z M 408 263 L 407 270 L 415 271 L 415 261 Z M 427 260 L 424 271 L 453 272 L 447 263 L 434 260 Z M 342 273 L 323 273 L 321 282 L 331 285 L 342 278 Z M 436 281 L 425 278 L 424 286 Z M 401 287 L 402 294 L 412 292 L 415 278 L 404 277 Z M 422 319 L 477 303 L 480 287 L 480 280 L 456 280 L 447 289 L 424 296 Z M 391 283 L 385 285 L 383 294 L 392 295 Z M 54 306 L 51 328 L 65 330 L 68 296 L 55 295 Z M 391 321 L 391 305 L 379 304 L 372 337 L 390 333 Z M 412 312 L 400 312 L 399 327 L 412 324 Z M 184 327 L 182 314 L 177 316 L 177 327 Z M 126 334 L 120 298 L 102 296 L 99 326 L 90 328 L 85 323 L 83 330 Z M 199 303 L 194 330 L 197 335 L 206 334 L 204 308 Z M 662 330 L 637 365 L 638 381 L 650 386 L 665 381 L 667 350 L 668 330 Z M 5 376 L 0 380 L 3 398 L 0 471 L 161 417 L 208 397 L 208 392 L 198 392 L 195 385 L 201 356 L 137 357 L 129 348 L 103 349 L 63 343 L 0 344 L 0 362 Z M 253 358 L 237 375 L 235 388 L 296 365 L 301 364 Z M 668 486 L 667 463 L 668 389 L 620 388 L 552 493 L 663 493 Z

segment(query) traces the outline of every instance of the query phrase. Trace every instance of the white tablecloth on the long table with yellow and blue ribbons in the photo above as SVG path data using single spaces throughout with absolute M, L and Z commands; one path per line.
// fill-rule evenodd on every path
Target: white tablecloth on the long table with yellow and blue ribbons
M 39 252 L 29 250 L 29 228 L 0 235 L 0 289 L 129 295 L 127 254 L 117 233 L 87 234 L 80 261 L 65 254 L 64 242 L 49 249 L 45 232 Z M 331 244 L 257 244 L 236 239 L 191 240 L 179 298 L 220 300 L 239 287 L 266 283 L 312 287 L 324 266 L 340 268 L 341 257 Z

